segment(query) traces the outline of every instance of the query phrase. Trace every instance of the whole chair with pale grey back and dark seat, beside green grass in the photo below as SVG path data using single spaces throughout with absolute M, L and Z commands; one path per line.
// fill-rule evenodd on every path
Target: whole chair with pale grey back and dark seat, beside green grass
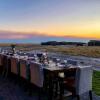
M 64 89 L 72 92 L 72 96 L 77 97 L 77 100 L 88 92 L 90 100 L 92 100 L 92 72 L 91 66 L 77 68 L 75 78 L 64 79 Z

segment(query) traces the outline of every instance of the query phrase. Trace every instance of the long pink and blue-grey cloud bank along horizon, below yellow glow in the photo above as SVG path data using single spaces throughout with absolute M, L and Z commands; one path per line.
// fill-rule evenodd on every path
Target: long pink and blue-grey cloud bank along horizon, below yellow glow
M 40 43 L 45 41 L 88 41 L 87 38 L 73 36 L 48 35 L 40 32 L 15 32 L 0 30 L 0 42 L 4 43 Z

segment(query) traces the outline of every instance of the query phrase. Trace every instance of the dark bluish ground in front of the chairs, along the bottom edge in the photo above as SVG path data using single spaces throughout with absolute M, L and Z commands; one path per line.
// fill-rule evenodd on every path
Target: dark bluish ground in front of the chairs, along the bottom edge
M 35 94 L 35 90 L 33 95 L 29 96 L 18 84 L 15 84 L 8 78 L 0 77 L 0 100 L 38 100 L 38 96 Z M 42 100 L 46 100 L 46 98 Z M 65 100 L 71 100 L 71 98 L 67 97 Z M 93 100 L 100 100 L 100 97 L 93 94 Z

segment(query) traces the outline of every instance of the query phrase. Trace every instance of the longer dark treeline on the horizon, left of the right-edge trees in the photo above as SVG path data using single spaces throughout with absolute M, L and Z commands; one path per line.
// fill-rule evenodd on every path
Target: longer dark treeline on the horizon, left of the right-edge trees
M 86 43 L 83 42 L 57 42 L 57 41 L 48 41 L 48 42 L 42 42 L 41 45 L 75 45 L 75 46 L 83 46 L 86 45 Z

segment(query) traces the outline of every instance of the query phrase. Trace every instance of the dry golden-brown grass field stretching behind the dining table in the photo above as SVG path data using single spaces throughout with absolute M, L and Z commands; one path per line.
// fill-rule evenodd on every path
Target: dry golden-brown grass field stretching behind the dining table
M 11 44 L 0 44 L 0 46 L 10 46 Z M 41 46 L 39 44 L 16 44 L 17 50 L 46 50 L 49 52 L 58 52 L 67 55 L 100 57 L 100 47 L 96 46 Z

